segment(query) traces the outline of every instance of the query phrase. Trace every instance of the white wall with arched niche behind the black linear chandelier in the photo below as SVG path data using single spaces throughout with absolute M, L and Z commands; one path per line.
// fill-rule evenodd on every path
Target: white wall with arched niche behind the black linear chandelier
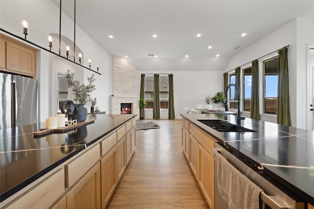
M 26 20 L 29 24 L 27 40 L 43 47 L 48 48 L 48 35 L 59 33 L 59 9 L 50 0 L 1 0 L 0 1 L 0 25 L 1 28 L 23 37 L 22 21 Z M 62 13 L 61 34 L 70 40 L 74 40 L 74 24 Z M 102 75 L 95 74 L 96 90 L 92 92 L 92 97 L 97 98 L 97 106 L 101 111 L 109 110 L 109 95 L 112 93 L 112 82 L 109 80 L 109 54 L 91 39 L 78 26 L 76 27 L 76 44 L 83 52 L 82 64 L 87 67 L 88 59 L 92 60 L 92 69 L 96 70 L 99 65 L 99 72 Z M 73 46 L 70 46 L 73 47 Z M 48 116 L 56 114 L 56 106 L 52 105 L 55 101 L 55 75 L 56 71 L 64 72 L 68 68 L 68 63 L 62 66 L 53 63 L 51 53 L 41 50 L 37 54 L 37 79 L 39 80 L 39 110 L 40 121 L 45 121 Z M 73 48 L 71 49 L 73 50 Z M 58 40 L 53 40 L 52 51 L 58 53 Z M 61 45 L 61 55 L 65 56 L 65 44 Z M 73 51 L 70 51 L 73 54 Z M 73 56 L 70 55 L 69 58 Z M 62 58 L 58 58 L 59 60 Z M 57 60 L 57 59 L 55 59 Z M 78 54 L 76 61 L 78 61 Z M 65 61 L 67 62 L 67 61 Z M 70 62 L 69 62 L 70 63 Z M 61 66 L 60 66 L 61 65 Z M 83 82 L 87 83 L 87 76 L 93 72 L 74 65 L 76 74 Z M 56 68 L 57 67 L 57 68 Z

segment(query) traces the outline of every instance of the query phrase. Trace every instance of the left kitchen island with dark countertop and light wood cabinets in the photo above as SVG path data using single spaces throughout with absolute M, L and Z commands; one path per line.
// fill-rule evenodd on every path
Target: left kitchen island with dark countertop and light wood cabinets
M 89 191 L 95 196 L 93 208 L 105 207 L 135 151 L 135 116 L 88 115 L 94 123 L 39 137 L 33 133 L 45 123 L 0 130 L 1 208 L 27 208 L 26 203 L 40 208 L 61 203 L 71 208 L 77 201 L 74 191 L 84 188 L 86 176 L 94 185 L 110 179 L 113 185 Z

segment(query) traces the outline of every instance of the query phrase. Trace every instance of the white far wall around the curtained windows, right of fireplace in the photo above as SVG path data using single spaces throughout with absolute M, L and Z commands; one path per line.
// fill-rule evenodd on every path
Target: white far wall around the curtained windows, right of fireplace
M 184 108 L 186 107 L 197 108 L 198 104 L 203 104 L 205 107 L 205 97 L 207 95 L 212 97 L 217 92 L 223 91 L 222 71 L 139 71 L 139 77 L 141 73 L 173 74 L 175 118 L 181 118 L 180 114 L 184 114 Z M 213 108 L 217 107 L 213 103 L 210 103 L 210 105 Z M 145 118 L 153 118 L 152 110 L 145 110 Z M 168 118 L 168 111 L 161 110 L 160 118 Z

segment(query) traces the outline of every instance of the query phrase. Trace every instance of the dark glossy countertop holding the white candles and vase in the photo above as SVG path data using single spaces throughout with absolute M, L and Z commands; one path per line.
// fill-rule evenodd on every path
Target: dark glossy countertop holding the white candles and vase
M 0 201 L 35 181 L 59 164 L 136 115 L 91 114 L 95 122 L 63 133 L 34 137 L 45 123 L 0 130 Z

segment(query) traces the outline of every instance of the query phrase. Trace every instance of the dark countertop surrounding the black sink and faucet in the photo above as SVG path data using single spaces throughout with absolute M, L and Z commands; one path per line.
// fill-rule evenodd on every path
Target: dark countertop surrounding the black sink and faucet
M 221 114 L 182 114 L 288 195 L 314 205 L 314 132 L 276 123 Z M 221 119 L 257 132 L 218 132 L 199 119 Z M 263 170 L 257 166 L 264 167 Z

